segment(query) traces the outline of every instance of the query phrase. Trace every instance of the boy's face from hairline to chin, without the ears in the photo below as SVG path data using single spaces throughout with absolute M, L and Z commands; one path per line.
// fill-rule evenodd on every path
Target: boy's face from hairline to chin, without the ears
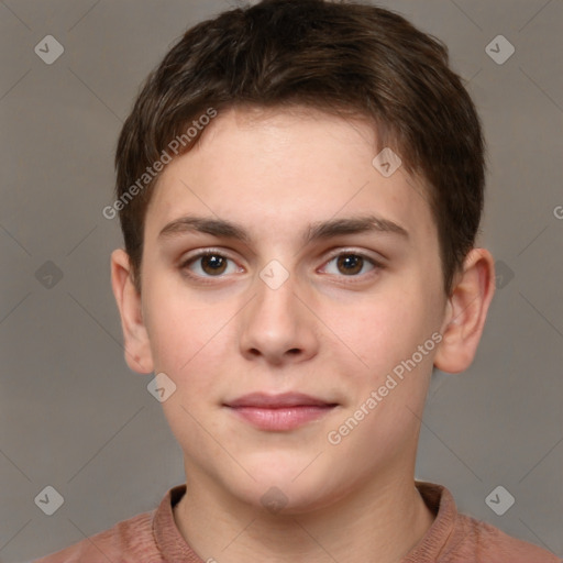
M 163 173 L 134 345 L 176 386 L 195 482 L 299 512 L 413 471 L 446 298 L 422 188 L 375 146 L 365 122 L 238 110 Z

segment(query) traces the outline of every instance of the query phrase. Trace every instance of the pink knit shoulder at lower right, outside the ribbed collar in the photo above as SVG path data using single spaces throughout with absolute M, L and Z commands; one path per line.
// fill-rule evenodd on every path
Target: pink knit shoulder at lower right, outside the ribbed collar
M 466 515 L 457 515 L 452 536 L 448 542 L 448 551 L 454 554 L 452 561 L 466 556 L 467 561 L 486 563 L 562 563 L 553 553 Z M 449 553 L 443 555 L 443 561 L 450 561 Z

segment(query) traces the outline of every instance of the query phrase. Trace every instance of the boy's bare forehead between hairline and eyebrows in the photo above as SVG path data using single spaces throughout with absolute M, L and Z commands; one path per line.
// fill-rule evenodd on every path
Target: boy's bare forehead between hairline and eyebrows
M 231 219 L 251 238 L 299 236 L 299 224 L 369 213 L 413 234 L 434 229 L 426 190 L 374 166 L 372 123 L 310 110 L 219 114 L 163 172 L 147 211 L 153 236 L 183 216 Z M 408 228 L 407 228 L 408 225 Z

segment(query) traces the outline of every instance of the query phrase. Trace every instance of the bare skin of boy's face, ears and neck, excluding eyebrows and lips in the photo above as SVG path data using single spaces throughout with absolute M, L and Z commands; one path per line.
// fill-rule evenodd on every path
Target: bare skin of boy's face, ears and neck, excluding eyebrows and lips
M 174 516 L 203 561 L 360 563 L 377 554 L 390 563 L 432 525 L 413 481 L 424 398 L 433 365 L 449 373 L 471 365 L 494 294 L 494 260 L 472 250 L 448 297 L 420 184 L 415 190 L 402 167 L 384 177 L 372 165 L 375 146 L 362 121 L 311 110 L 224 112 L 158 181 L 141 294 L 125 252 L 112 254 L 126 361 L 176 385 L 163 402 L 186 470 L 187 494 Z M 367 212 L 409 236 L 301 242 L 312 222 Z M 158 236 L 186 214 L 235 221 L 251 240 Z M 201 249 L 229 258 L 219 275 L 202 260 L 183 266 Z M 354 269 L 334 253 L 366 258 Z M 273 260 L 289 274 L 277 289 L 260 276 Z M 328 433 L 433 332 L 441 342 L 331 444 Z M 222 406 L 253 391 L 299 391 L 339 406 L 297 429 L 265 431 Z M 287 501 L 278 512 L 261 501 L 272 486 Z

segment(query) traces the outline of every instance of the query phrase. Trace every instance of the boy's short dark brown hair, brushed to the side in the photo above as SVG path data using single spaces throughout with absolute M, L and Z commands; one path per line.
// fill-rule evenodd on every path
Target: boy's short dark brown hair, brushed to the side
M 115 195 L 137 289 L 145 214 L 159 175 L 123 197 L 147 166 L 210 108 L 291 106 L 369 120 L 378 151 L 390 147 L 408 173 L 423 178 L 450 295 L 483 211 L 485 144 L 475 107 L 440 40 L 389 10 L 328 0 L 263 0 L 225 11 L 189 29 L 148 75 L 115 154 Z M 178 155 L 197 145 L 202 130 Z

